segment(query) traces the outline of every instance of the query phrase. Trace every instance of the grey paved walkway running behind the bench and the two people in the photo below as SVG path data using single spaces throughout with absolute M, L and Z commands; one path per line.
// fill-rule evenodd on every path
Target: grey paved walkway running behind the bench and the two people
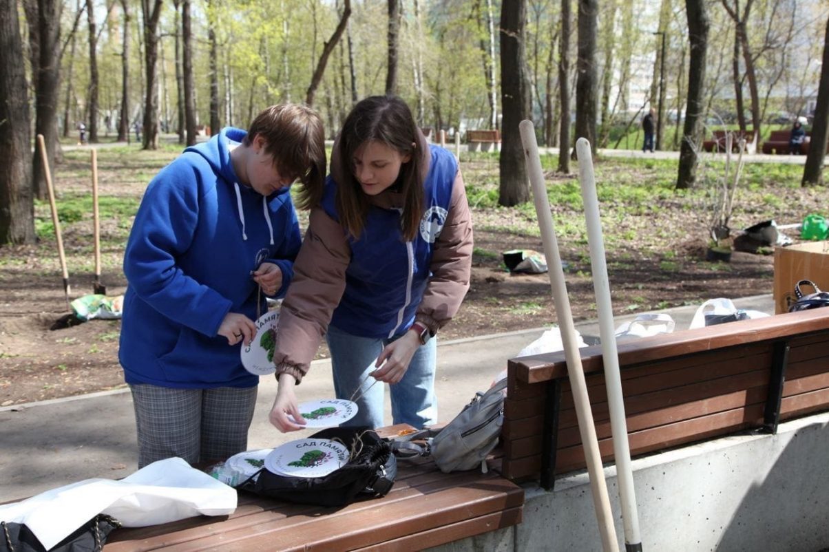
M 774 312 L 771 295 L 736 299 L 734 304 Z M 680 331 L 689 326 L 696 308 L 677 307 L 663 312 L 671 314 L 676 331 Z M 616 325 L 634 316 L 617 317 Z M 580 322 L 576 327 L 584 337 L 599 335 L 595 321 Z M 440 343 L 435 385 L 439 419 L 451 419 L 476 391 L 487 389 L 507 367 L 507 360 L 542 331 L 536 328 Z M 272 448 L 307 437 L 312 431 L 283 434 L 269 424 L 275 392 L 274 378 L 263 377 L 250 428 L 250 449 Z M 331 362 L 314 361 L 297 395 L 300 401 L 333 397 Z M 388 404 L 385 416 L 390 423 Z M 117 390 L 0 408 L 0 443 L 0 502 L 90 477 L 125 477 L 137 469 L 131 395 Z

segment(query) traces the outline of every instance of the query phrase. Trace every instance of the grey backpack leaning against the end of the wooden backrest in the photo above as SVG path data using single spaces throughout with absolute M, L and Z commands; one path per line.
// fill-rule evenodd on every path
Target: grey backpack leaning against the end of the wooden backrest
M 504 393 L 507 378 L 487 390 L 478 391 L 461 413 L 443 429 L 424 429 L 392 442 L 398 458 L 431 456 L 441 472 L 460 472 L 478 466 L 487 471 L 487 454 L 492 452 L 501 436 L 504 421 Z M 421 446 L 414 441 L 424 440 Z

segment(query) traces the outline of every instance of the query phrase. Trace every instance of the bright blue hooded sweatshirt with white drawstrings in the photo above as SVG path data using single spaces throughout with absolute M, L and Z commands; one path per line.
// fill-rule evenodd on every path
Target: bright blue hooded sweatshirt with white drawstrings
M 127 249 L 119 361 L 130 384 L 250 387 L 259 377 L 240 346 L 217 335 L 228 312 L 256 320 L 250 272 L 282 269 L 284 295 L 301 238 L 285 187 L 264 197 L 237 182 L 230 146 L 245 131 L 224 128 L 184 150 L 149 183 Z M 259 308 L 266 312 L 264 296 Z

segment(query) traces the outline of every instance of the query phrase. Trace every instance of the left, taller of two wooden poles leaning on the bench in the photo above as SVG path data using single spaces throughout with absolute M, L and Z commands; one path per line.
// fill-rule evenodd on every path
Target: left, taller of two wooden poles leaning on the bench
M 527 173 L 530 177 L 532 196 L 536 203 L 538 225 L 541 227 L 541 242 L 544 244 L 544 254 L 550 274 L 550 288 L 552 288 L 553 301 L 555 302 L 555 313 L 561 330 L 561 339 L 564 342 L 567 374 L 570 377 L 570 387 L 573 388 L 576 419 L 579 421 L 579 434 L 584 448 L 584 458 L 587 461 L 590 490 L 593 493 L 593 505 L 596 510 L 596 520 L 599 522 L 602 547 L 605 552 L 616 552 L 618 551 L 618 542 L 616 540 L 616 528 L 613 526 L 613 512 L 610 510 L 608 487 L 604 481 L 602 456 L 599 453 L 599 439 L 596 438 L 593 413 L 590 410 L 587 383 L 584 380 L 584 368 L 581 366 L 578 339 L 573 314 L 570 311 L 570 298 L 567 297 L 565 272 L 561 266 L 559 244 L 555 239 L 553 216 L 550 214 L 550 201 L 547 199 L 544 172 L 541 170 L 541 158 L 538 157 L 536 130 L 532 126 L 532 121 L 529 120 L 521 121 L 518 128 L 521 132 L 521 143 L 524 145 L 524 158 Z

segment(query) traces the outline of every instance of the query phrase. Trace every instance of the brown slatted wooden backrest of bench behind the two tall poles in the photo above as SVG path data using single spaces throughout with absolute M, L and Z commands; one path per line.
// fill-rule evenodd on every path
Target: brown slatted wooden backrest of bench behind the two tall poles
M 583 348 L 599 450 L 613 458 L 600 346 Z M 829 409 L 829 308 L 618 344 L 632 456 Z M 502 473 L 511 480 L 585 467 L 564 353 L 509 361 Z

